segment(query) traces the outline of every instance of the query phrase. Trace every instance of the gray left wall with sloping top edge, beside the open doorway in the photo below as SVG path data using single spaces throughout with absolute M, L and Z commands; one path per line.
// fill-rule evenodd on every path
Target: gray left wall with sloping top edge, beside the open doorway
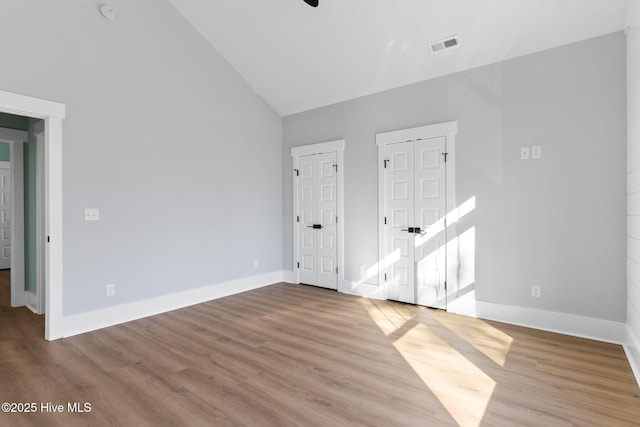
M 0 14 L 2 89 L 67 105 L 64 314 L 281 270 L 281 118 L 168 2 L 99 4 Z

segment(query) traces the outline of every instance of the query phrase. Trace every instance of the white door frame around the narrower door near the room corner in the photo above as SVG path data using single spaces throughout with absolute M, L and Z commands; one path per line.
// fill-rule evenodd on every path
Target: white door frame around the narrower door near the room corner
M 336 153 L 336 163 L 338 164 L 338 171 L 336 173 L 337 178 L 337 208 L 338 224 L 336 229 L 336 263 L 338 267 L 338 292 L 345 291 L 344 283 L 344 211 L 343 211 L 343 159 L 344 159 L 344 139 L 321 142 L 318 144 L 303 145 L 300 147 L 291 148 L 291 157 L 293 158 L 293 217 L 292 217 L 292 230 L 293 230 L 293 269 L 295 271 L 295 281 L 300 283 L 300 271 L 297 267 L 299 258 L 298 254 L 298 222 L 296 216 L 298 215 L 298 180 L 296 179 L 296 172 L 298 171 L 298 161 L 301 156 L 310 156 L 312 154 L 324 154 L 324 153 Z

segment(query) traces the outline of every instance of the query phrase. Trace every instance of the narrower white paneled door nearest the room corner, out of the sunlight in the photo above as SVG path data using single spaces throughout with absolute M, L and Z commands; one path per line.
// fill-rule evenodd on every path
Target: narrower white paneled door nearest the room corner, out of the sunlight
M 338 288 L 336 153 L 298 160 L 300 283 Z

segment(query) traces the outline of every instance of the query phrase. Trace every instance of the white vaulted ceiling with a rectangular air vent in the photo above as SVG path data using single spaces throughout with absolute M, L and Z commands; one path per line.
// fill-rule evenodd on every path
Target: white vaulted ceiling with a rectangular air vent
M 622 30 L 629 0 L 169 1 L 286 116 Z

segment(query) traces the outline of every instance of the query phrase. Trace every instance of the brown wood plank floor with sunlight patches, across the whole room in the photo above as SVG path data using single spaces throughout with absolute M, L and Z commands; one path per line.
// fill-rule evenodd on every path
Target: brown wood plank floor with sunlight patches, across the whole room
M 617 345 L 289 284 L 45 342 L 6 276 L 2 426 L 640 425 Z

